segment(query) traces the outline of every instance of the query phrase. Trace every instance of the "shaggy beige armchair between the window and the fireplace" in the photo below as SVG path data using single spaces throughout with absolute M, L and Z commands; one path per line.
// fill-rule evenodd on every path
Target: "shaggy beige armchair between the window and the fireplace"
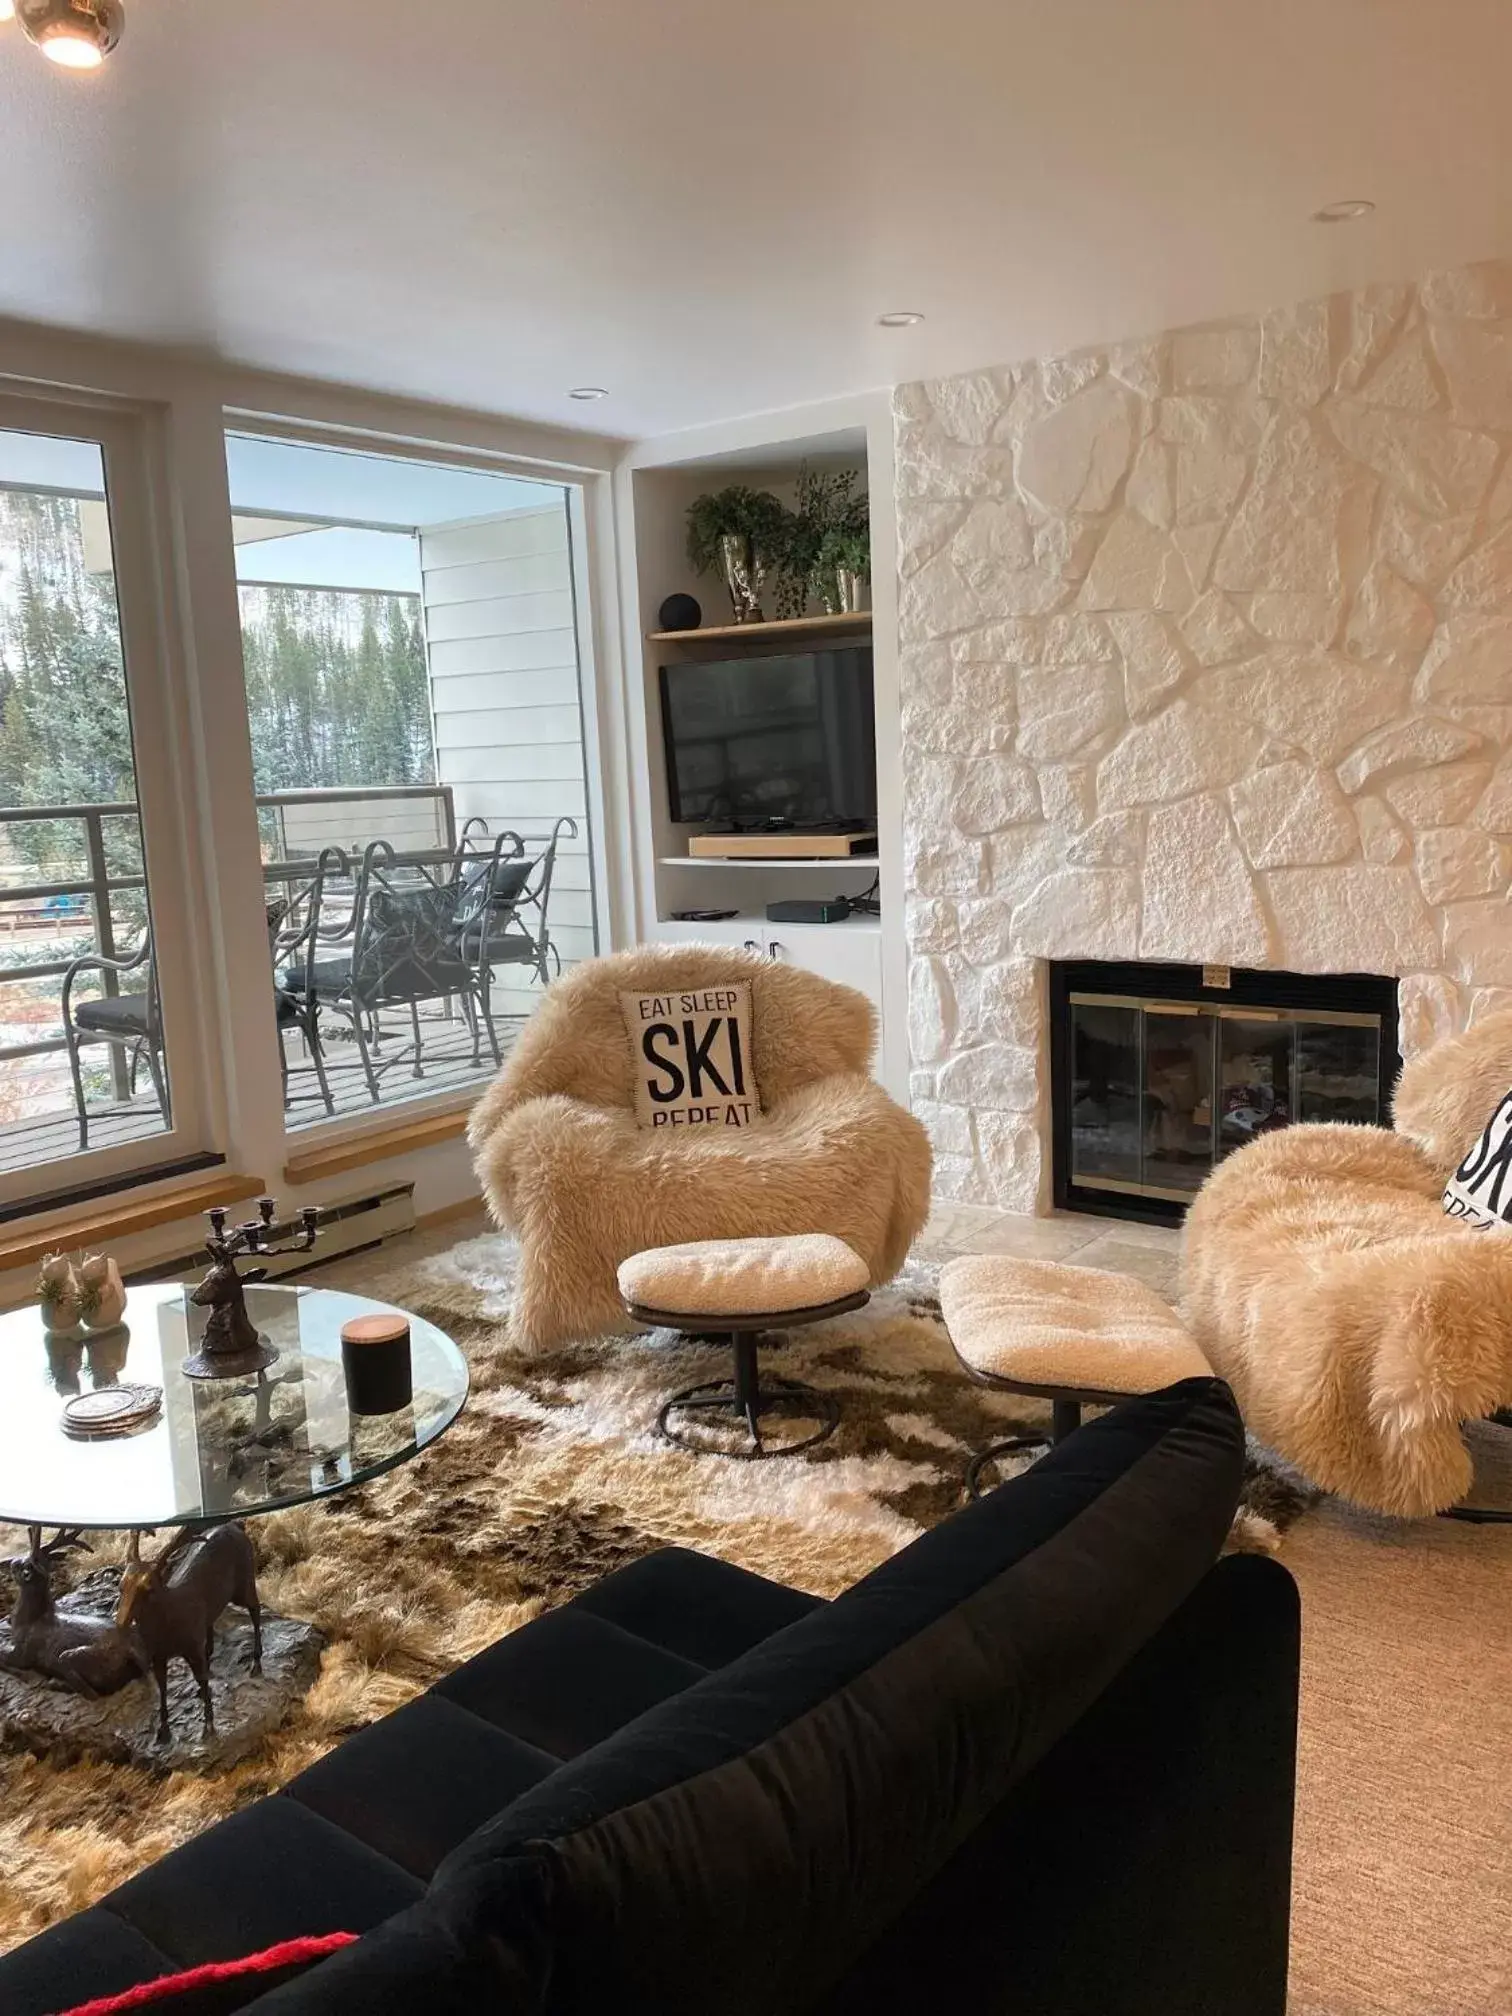
M 621 992 L 740 982 L 762 1119 L 637 1127 Z M 468 1127 L 494 1220 L 520 1240 L 512 1341 L 631 1331 L 615 1272 L 647 1246 L 831 1232 L 889 1280 L 929 1210 L 929 1137 L 867 1075 L 873 1044 L 863 994 L 748 952 L 643 946 L 556 980 Z

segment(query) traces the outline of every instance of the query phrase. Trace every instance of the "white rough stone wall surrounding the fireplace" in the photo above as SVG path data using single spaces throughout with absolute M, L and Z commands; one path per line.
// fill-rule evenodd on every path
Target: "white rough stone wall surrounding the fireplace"
M 1036 1210 L 1044 958 L 1512 1002 L 1512 262 L 903 385 L 909 1040 Z

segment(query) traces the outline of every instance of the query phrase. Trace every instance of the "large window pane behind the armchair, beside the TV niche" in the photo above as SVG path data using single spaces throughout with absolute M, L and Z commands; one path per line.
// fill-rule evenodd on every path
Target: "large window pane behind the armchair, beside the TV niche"
M 290 1127 L 490 1077 L 597 950 L 571 500 L 228 435 Z

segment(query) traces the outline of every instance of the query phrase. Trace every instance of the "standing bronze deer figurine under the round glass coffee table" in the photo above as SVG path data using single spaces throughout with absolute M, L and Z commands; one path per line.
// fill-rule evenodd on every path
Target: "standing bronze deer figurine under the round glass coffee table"
M 143 1562 L 141 1536 L 131 1534 L 131 1552 L 121 1570 L 121 1607 L 115 1621 L 141 1639 L 145 1661 L 157 1681 L 157 1742 L 165 1744 L 167 1661 L 183 1659 L 194 1673 L 206 1712 L 206 1734 L 216 1728 L 210 1697 L 210 1655 L 216 1649 L 216 1619 L 234 1603 L 252 1619 L 252 1671 L 262 1671 L 262 1609 L 258 1605 L 256 1560 L 244 1526 L 216 1526 L 200 1546 L 194 1530 L 181 1526 L 167 1546 Z

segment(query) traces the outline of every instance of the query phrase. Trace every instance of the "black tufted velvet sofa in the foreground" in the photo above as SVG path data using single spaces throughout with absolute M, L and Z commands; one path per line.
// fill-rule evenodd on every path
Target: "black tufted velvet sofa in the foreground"
M 835 1603 L 669 1548 L 0 1960 L 4 2016 L 1282 2016 L 1298 1607 L 1191 1379 Z

